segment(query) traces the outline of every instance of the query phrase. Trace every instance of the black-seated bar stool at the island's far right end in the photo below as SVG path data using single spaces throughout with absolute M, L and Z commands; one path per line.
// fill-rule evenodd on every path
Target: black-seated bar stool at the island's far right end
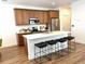
M 73 36 L 65 37 L 65 39 L 68 39 L 69 52 L 70 52 L 71 50 L 75 50 L 75 49 L 76 49 L 75 38 L 74 38 Z M 71 40 L 74 40 L 74 42 L 72 42 Z M 72 44 L 72 43 L 73 43 L 73 44 Z M 72 49 L 71 44 L 72 44 L 73 49 Z

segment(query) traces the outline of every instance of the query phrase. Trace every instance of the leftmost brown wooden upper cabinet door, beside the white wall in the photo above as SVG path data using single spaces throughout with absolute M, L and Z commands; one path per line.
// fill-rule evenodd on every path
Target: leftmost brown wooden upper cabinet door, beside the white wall
M 14 12 L 16 25 L 23 25 L 23 10 L 15 9 Z

